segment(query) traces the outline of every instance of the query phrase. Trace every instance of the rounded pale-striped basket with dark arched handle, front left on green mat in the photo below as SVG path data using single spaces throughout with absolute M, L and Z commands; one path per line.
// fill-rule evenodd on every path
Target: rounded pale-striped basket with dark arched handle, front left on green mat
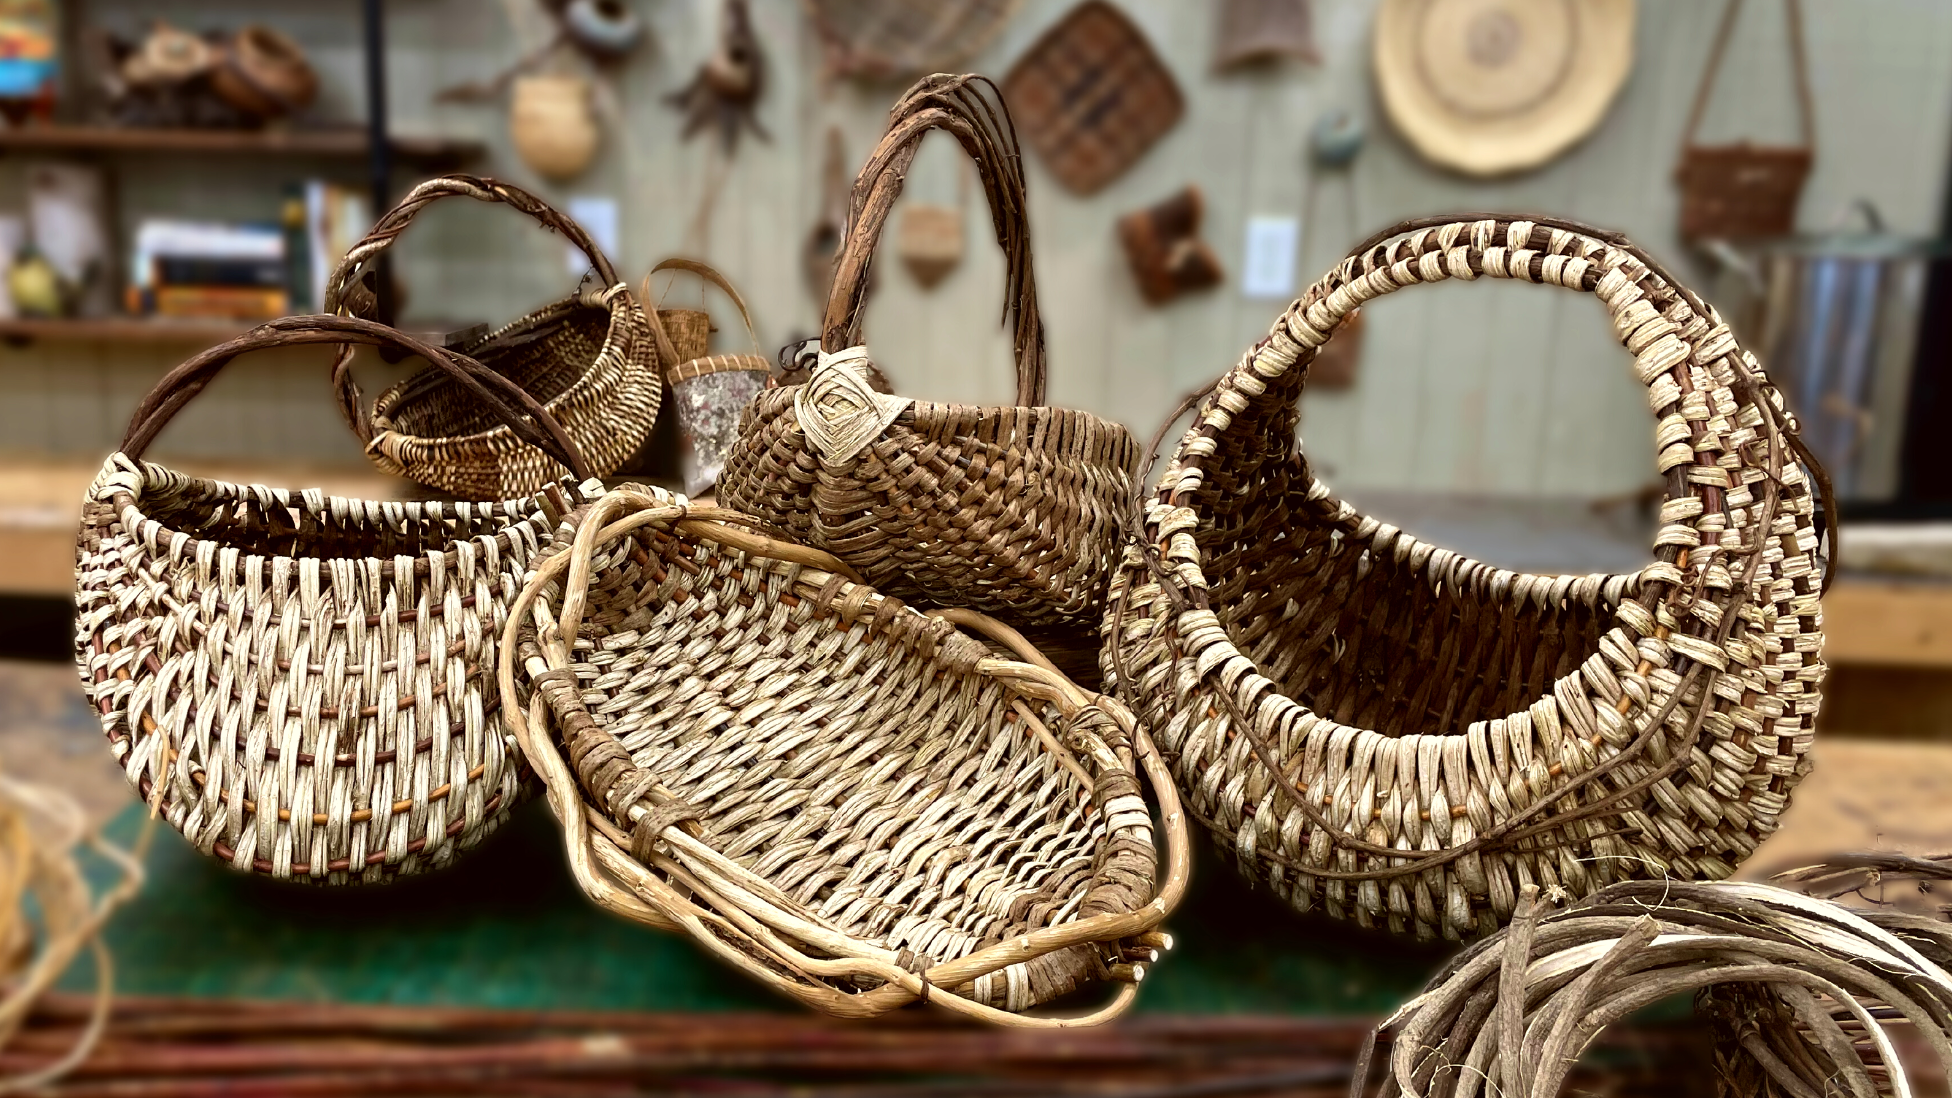
M 386 881 L 449 864 L 523 793 L 496 643 L 529 555 L 599 486 L 412 504 L 141 461 L 230 359 L 297 344 L 420 354 L 582 465 L 541 404 L 478 363 L 367 320 L 273 320 L 164 377 L 102 465 L 82 506 L 76 664 L 129 783 L 197 850 L 283 879 Z

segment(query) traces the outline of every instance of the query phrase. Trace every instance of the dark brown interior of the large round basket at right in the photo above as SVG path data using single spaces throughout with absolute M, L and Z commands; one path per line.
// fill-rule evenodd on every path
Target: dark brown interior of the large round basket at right
M 1493 590 L 1491 567 L 1433 584 L 1419 559 L 1359 535 L 1372 524 L 1339 516 L 1335 496 L 1310 500 L 1300 373 L 1216 438 L 1195 500 L 1208 602 L 1261 674 L 1339 725 L 1454 735 L 1525 709 L 1599 651 L 1612 627 L 1601 582 L 1556 602 Z

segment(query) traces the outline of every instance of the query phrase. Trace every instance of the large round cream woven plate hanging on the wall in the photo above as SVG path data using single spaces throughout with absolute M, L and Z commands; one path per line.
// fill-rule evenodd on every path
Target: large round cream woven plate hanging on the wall
M 1536 168 L 1593 131 L 1634 64 L 1634 0 L 1384 0 L 1376 88 L 1423 156 Z

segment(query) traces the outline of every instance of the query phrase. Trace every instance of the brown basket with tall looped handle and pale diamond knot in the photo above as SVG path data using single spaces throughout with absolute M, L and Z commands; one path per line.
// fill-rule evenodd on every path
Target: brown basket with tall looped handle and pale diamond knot
M 861 344 L 869 264 L 921 139 L 945 129 L 976 160 L 1009 266 L 1005 317 L 1017 352 L 1015 408 L 933 404 L 874 393 Z M 820 363 L 806 385 L 753 401 L 718 498 L 796 541 L 828 549 L 869 584 L 1011 623 L 1091 619 L 1117 561 L 1138 481 L 1122 426 L 1044 399 L 1044 328 L 1017 137 L 980 76 L 929 76 L 894 106 L 853 190 L 828 299 Z

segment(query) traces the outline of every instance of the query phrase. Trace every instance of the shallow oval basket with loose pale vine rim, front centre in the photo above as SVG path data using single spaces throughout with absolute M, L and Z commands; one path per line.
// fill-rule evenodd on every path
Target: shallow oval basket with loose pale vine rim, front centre
M 611 492 L 513 608 L 502 686 L 582 887 L 832 1014 L 1124 1010 L 1187 877 L 1146 733 L 750 522 Z

